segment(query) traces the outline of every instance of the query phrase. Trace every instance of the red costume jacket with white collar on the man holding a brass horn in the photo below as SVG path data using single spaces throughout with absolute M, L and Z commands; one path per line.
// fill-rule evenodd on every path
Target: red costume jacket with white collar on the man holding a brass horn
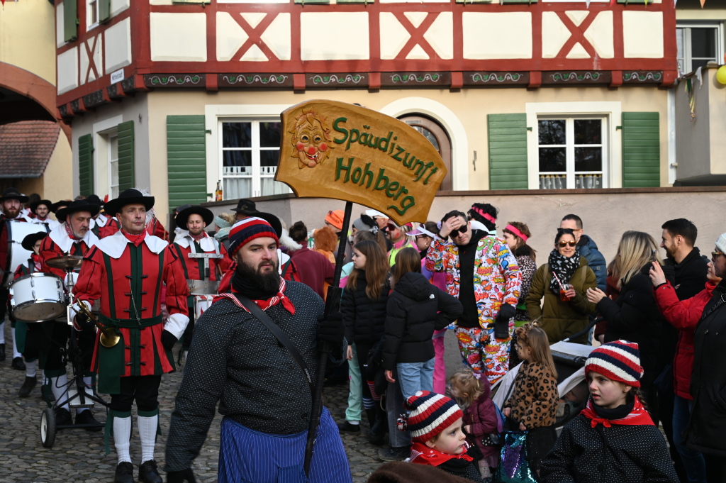
M 161 321 L 163 283 L 169 312 L 166 324 Z M 181 262 L 166 241 L 145 235 L 136 246 L 123 232 L 99 240 L 83 261 L 73 293 L 90 305 L 100 299 L 101 323 L 117 328 L 123 338 L 123 346 L 119 343 L 108 349 L 98 344 L 97 337 L 92 367 L 99 373 L 99 391 L 102 379 L 158 376 L 174 370 L 171 354 L 161 344 L 161 333 L 166 329 L 177 339 L 184 333 L 189 322 L 189 289 Z M 115 352 L 118 346 L 123 356 Z M 116 357 L 123 358 L 123 367 Z

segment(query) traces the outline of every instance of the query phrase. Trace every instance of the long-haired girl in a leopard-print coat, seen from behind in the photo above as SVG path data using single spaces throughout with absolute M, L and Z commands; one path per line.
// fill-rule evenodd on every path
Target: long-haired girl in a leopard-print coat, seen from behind
M 515 331 L 517 354 L 522 360 L 514 380 L 514 390 L 502 413 L 528 431 L 529 463 L 535 473 L 557 439 L 555 418 L 560 398 L 557 370 L 552 360 L 547 333 L 529 322 Z

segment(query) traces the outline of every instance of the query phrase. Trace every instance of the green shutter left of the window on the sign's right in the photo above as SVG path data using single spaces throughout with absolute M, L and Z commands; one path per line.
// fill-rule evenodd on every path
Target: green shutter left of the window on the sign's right
M 486 115 L 489 141 L 489 189 L 526 190 L 526 114 Z

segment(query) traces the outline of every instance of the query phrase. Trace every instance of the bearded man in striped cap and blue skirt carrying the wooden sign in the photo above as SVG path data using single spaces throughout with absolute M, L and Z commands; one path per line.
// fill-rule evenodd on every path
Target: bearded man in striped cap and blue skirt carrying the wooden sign
M 197 321 L 171 415 L 166 481 L 195 481 L 192 460 L 219 402 L 224 415 L 219 483 L 304 482 L 307 429 L 310 418 L 317 417 L 311 415 L 311 381 L 317 373 L 318 344 L 335 346 L 335 356 L 342 360 L 342 317 L 325 318 L 323 301 L 311 288 L 280 277 L 279 239 L 264 219 L 237 222 L 229 240 L 229 256 L 237 263 L 232 293 L 218 296 Z M 245 304 L 261 309 L 289 341 L 278 342 Z M 288 344 L 296 351 L 288 350 Z M 309 369 L 303 372 L 303 366 Z M 307 481 L 352 481 L 338 426 L 325 407 Z

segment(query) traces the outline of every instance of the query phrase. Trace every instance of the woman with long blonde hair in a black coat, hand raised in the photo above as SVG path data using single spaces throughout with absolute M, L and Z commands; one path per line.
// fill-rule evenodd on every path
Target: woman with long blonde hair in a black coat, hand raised
M 653 261 L 663 265 L 653 237 L 645 232 L 625 232 L 613 267 L 620 295 L 613 301 L 599 288 L 590 288 L 587 299 L 596 304 L 597 312 L 608 321 L 605 343 L 624 339 L 640 347 L 640 362 L 645 371 L 640 386 L 648 400 L 650 415 L 658 424 L 658 399 L 653 381 L 664 366 L 663 361 L 658 360 L 658 345 L 665 320 L 658 310 L 650 282 Z

